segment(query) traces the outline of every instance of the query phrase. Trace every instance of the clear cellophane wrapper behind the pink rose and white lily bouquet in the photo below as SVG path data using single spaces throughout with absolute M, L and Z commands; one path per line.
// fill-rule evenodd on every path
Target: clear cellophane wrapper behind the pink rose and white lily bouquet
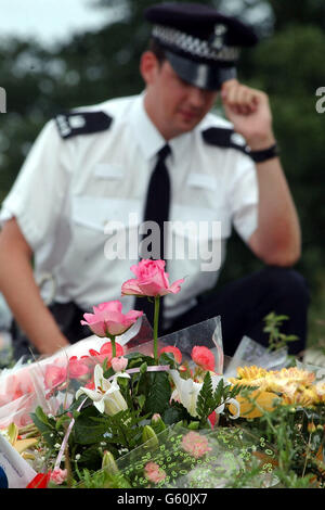
M 146 318 L 136 321 L 116 342 L 123 348 L 123 354 L 140 352 L 153 355 L 153 329 Z M 55 416 L 58 409 L 67 408 L 80 386 L 91 381 L 93 368 L 102 364 L 105 356 L 100 355 L 107 339 L 91 335 L 52 356 L 39 356 L 34 362 L 20 360 L 13 368 L 0 373 L 0 429 L 11 423 L 25 426 L 31 423 L 30 413 L 40 406 L 48 415 Z M 183 360 L 191 360 L 194 345 L 206 345 L 214 353 L 216 372 L 222 373 L 223 349 L 220 317 L 208 319 L 185 328 L 177 333 L 161 336 L 159 349 L 176 345 L 183 354 Z M 92 355 L 90 356 L 90 353 Z M 94 353 L 98 353 L 95 355 Z M 75 364 L 72 368 L 70 360 Z M 86 368 L 88 371 L 86 372 Z M 84 373 L 83 373 L 84 372 Z M 65 374 L 65 375 L 64 375 Z

